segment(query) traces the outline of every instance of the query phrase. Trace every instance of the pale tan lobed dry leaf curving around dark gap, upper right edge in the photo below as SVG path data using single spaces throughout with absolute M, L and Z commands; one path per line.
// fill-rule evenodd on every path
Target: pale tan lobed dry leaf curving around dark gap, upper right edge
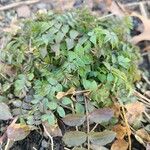
M 145 41 L 145 40 L 150 41 L 150 20 L 135 12 L 131 13 L 131 16 L 139 18 L 142 21 L 144 26 L 144 31 L 141 34 L 134 36 L 132 38 L 132 42 L 137 44 L 140 41 Z

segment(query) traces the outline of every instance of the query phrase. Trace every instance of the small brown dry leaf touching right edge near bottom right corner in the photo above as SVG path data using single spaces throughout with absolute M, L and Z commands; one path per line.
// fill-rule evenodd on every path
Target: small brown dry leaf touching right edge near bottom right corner
M 139 129 L 136 134 L 146 142 L 150 142 L 150 135 L 145 129 Z

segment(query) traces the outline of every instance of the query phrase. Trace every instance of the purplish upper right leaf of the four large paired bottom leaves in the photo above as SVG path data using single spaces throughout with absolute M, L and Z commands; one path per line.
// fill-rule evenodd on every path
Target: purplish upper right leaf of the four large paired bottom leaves
M 110 108 L 100 108 L 89 113 L 89 119 L 95 123 L 107 122 L 113 117 L 113 110 Z

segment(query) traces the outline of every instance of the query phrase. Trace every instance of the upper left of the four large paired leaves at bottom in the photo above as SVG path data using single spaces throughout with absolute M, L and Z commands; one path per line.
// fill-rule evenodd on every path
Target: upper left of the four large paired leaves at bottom
M 62 120 L 68 126 L 80 126 L 85 121 L 85 115 L 81 115 L 81 114 L 68 114 Z

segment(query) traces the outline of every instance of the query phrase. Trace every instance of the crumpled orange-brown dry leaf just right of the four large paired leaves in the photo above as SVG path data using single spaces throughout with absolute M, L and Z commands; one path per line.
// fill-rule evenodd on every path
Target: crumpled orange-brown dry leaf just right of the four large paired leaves
M 116 138 L 117 139 L 123 139 L 124 136 L 127 134 L 127 128 L 117 124 L 113 127 L 113 131 L 117 133 Z

